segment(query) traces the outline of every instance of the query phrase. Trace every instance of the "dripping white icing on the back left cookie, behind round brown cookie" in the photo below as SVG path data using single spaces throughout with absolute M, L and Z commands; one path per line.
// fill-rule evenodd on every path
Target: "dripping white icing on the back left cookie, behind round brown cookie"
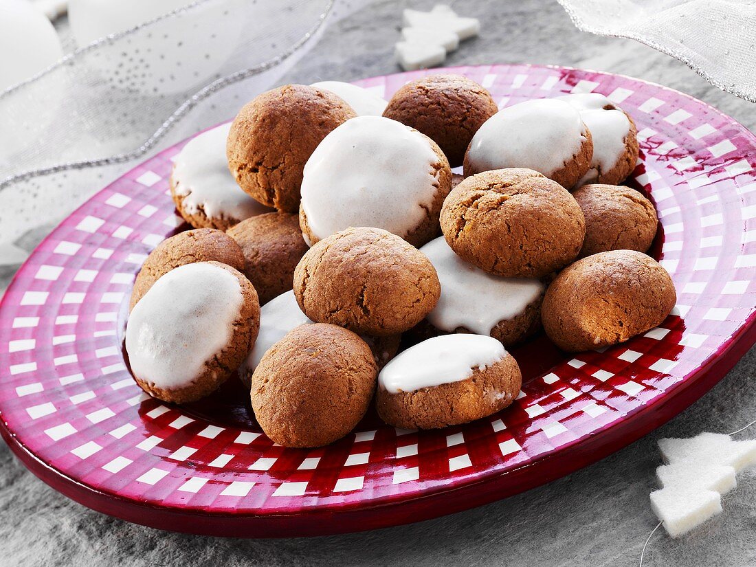
M 192 138 L 173 158 L 175 192 L 184 209 L 194 215 L 203 209 L 209 218 L 243 221 L 273 209 L 249 197 L 228 170 L 226 138 L 231 122 Z

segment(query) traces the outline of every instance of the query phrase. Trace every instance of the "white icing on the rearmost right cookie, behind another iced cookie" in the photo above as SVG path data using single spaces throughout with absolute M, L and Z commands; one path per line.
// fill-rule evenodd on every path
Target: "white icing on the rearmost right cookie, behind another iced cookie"
M 609 172 L 625 152 L 624 138 L 630 132 L 630 120 L 625 113 L 597 92 L 578 93 L 557 97 L 578 109 L 585 125 L 593 136 L 593 160 L 590 169 L 578 185 L 591 183 L 598 178 L 599 169 Z M 611 107 L 605 110 L 604 107 Z

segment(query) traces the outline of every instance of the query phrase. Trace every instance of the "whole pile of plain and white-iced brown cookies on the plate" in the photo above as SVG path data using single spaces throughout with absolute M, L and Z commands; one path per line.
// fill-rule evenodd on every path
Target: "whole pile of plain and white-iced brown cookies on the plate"
M 135 281 L 135 380 L 184 403 L 238 370 L 287 447 L 336 441 L 373 400 L 405 429 L 500 411 L 522 383 L 510 346 L 543 328 L 599 349 L 674 307 L 646 256 L 654 206 L 618 185 L 637 157 L 603 95 L 498 110 L 454 75 L 388 102 L 339 82 L 265 92 L 175 157 L 194 229 Z

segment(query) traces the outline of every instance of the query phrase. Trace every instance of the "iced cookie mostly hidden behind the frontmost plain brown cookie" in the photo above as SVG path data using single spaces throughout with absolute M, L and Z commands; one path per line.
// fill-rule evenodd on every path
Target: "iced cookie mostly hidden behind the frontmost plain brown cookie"
M 280 296 L 271 299 L 260 308 L 260 332 L 258 333 L 255 346 L 249 352 L 246 358 L 243 371 L 240 371 L 240 378 L 249 388 L 252 380 L 252 373 L 262 360 L 262 356 L 268 352 L 276 342 L 283 339 L 290 330 L 299 325 L 308 325 L 313 323 L 307 315 L 302 313 L 299 303 L 292 290 L 281 293 Z M 394 358 L 399 349 L 400 335 L 392 336 L 361 336 L 360 337 L 370 350 L 373 352 L 373 360 L 376 361 L 378 368 L 383 368 L 386 363 Z

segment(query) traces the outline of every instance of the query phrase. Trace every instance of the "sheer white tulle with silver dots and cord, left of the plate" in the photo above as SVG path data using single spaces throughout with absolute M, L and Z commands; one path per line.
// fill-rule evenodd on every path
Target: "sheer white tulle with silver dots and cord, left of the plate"
M 0 93 L 0 249 L 138 159 L 232 118 L 368 2 L 200 0 Z

